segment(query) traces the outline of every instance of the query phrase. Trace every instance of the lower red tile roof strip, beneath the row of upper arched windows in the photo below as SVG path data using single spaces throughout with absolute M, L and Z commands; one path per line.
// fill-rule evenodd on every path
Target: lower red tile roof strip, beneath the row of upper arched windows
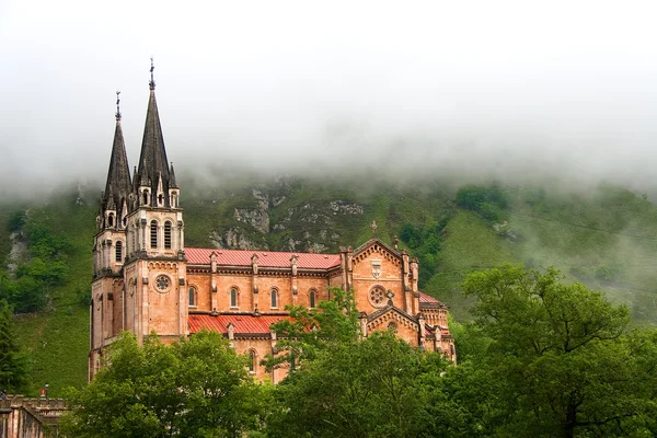
M 251 314 L 191 314 L 187 319 L 189 323 L 189 333 L 200 332 L 201 330 L 210 330 L 218 333 L 228 333 L 228 324 L 234 325 L 234 333 L 269 333 L 269 326 L 275 322 L 283 320 L 291 320 L 288 315 L 260 315 Z

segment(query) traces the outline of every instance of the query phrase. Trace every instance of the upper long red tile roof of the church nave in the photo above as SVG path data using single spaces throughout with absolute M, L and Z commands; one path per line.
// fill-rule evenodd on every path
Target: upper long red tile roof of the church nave
M 257 254 L 261 267 L 291 267 L 290 258 L 297 255 L 300 269 L 327 269 L 339 265 L 339 254 L 285 253 L 249 250 L 212 250 L 206 247 L 186 247 L 187 262 L 194 265 L 209 265 L 210 254 L 217 254 L 219 266 L 251 266 L 251 257 Z

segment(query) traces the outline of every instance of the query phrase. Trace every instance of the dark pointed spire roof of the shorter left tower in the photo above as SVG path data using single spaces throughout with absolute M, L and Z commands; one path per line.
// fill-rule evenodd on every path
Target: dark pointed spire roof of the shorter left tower
M 130 168 L 128 166 L 126 145 L 120 128 L 120 115 L 117 113 L 110 170 L 107 171 L 107 182 L 103 193 L 103 209 L 116 209 L 117 206 L 123 205 L 123 200 L 128 198 L 130 191 Z

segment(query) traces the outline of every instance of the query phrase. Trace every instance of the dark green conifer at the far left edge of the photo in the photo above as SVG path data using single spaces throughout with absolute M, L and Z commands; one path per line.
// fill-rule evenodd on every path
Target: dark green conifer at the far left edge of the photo
M 0 299 L 0 390 L 21 392 L 27 378 L 27 358 L 20 350 L 11 309 Z

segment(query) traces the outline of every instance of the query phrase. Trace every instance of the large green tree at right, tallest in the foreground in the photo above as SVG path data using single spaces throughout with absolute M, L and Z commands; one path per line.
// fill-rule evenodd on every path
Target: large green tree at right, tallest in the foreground
M 463 283 L 479 299 L 472 313 L 491 338 L 477 366 L 498 385 L 494 407 L 506 419 L 496 433 L 654 434 L 657 333 L 627 332 L 625 307 L 561 280 L 553 268 L 507 265 Z

